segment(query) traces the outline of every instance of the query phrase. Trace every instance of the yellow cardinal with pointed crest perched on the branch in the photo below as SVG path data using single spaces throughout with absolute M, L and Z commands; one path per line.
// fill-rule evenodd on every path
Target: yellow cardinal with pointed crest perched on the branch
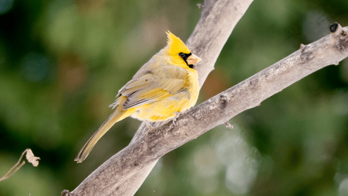
M 199 84 L 193 64 L 200 58 L 180 38 L 169 31 L 166 33 L 167 45 L 118 90 L 117 99 L 110 105 L 116 109 L 78 152 L 77 162 L 82 162 L 100 137 L 125 117 L 144 120 L 151 129 L 148 121 L 173 118 L 195 104 Z

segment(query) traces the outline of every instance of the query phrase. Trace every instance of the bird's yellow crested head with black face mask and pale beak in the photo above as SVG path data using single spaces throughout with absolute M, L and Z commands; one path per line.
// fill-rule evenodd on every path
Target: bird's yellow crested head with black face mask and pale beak
M 166 34 L 168 41 L 165 46 L 165 51 L 175 64 L 184 68 L 193 68 L 193 64 L 201 60 L 198 56 L 191 53 L 179 37 L 175 36 L 169 30 Z

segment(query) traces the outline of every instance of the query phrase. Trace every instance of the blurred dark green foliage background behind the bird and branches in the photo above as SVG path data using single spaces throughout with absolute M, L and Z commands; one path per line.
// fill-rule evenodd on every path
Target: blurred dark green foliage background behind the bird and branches
M 166 44 L 183 41 L 203 0 L 0 0 L 0 176 L 25 148 L 41 158 L 0 195 L 59 195 L 125 147 L 116 123 L 77 152 L 118 89 Z M 255 0 L 226 42 L 199 102 L 348 25 L 347 0 Z M 330 65 L 163 156 L 135 195 L 348 195 L 348 60 Z

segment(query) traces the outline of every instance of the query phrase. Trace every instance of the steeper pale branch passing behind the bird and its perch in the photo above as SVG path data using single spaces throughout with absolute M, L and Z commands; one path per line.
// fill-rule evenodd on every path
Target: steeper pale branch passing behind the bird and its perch
M 234 26 L 252 1 L 253 0 L 204 0 L 204 8 L 202 9 L 201 17 L 191 36 L 186 41 L 186 45 L 191 51 L 202 58 L 202 61 L 197 67 L 200 87 L 209 72 L 213 70 L 215 61 Z M 159 126 L 160 124 L 163 123 L 155 123 L 154 126 Z M 142 136 L 146 130 L 146 126 L 142 123 L 130 144 Z M 114 190 L 110 194 L 98 192 L 98 195 L 133 195 L 145 180 L 156 161 L 157 160 L 154 160 L 151 164 L 139 170 L 119 186 L 113 186 Z M 92 194 L 94 191 L 91 187 L 88 191 L 82 191 L 82 189 L 84 189 L 84 182 L 71 193 L 69 193 L 68 190 L 63 190 L 62 195 Z

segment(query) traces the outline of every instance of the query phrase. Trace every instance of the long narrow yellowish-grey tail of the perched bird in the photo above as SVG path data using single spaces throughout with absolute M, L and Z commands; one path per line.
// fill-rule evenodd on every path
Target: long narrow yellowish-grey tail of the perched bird
M 124 99 L 124 100 L 122 100 Z M 120 103 L 123 103 L 125 101 L 125 96 L 120 96 L 118 98 Z M 101 138 L 102 135 L 108 131 L 108 129 L 111 128 L 111 126 L 124 119 L 125 117 L 128 117 L 132 114 L 129 109 L 123 111 L 122 104 L 119 104 L 115 111 L 108 117 L 104 123 L 101 124 L 101 126 L 98 128 L 98 130 L 95 131 L 95 133 L 88 139 L 86 144 L 82 147 L 82 149 L 78 152 L 77 156 L 75 157 L 75 161 L 82 162 L 89 154 L 90 150 L 94 147 L 95 143 Z

